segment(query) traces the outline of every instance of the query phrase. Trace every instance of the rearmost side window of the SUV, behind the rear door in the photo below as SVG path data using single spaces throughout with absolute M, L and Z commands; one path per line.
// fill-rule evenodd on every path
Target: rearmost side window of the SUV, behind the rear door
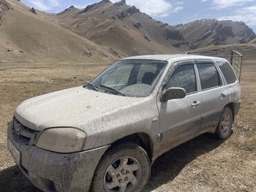
M 221 72 L 223 73 L 226 81 L 228 84 L 233 84 L 235 81 L 237 81 L 237 77 L 235 76 L 234 71 L 232 70 L 232 66 L 228 64 L 228 62 L 217 62 L 217 65 L 221 69 Z

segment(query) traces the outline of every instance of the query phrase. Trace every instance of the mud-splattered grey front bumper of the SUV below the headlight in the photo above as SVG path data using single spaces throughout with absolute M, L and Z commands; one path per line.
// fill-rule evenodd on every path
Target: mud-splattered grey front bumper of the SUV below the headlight
M 21 153 L 19 168 L 43 191 L 89 191 L 95 169 L 109 146 L 80 153 L 60 154 L 24 144 L 12 123 L 8 139 Z

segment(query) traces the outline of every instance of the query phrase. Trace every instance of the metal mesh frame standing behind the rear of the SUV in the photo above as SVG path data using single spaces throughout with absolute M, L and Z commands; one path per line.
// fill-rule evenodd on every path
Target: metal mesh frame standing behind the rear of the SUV
M 239 79 L 239 82 L 241 81 L 241 69 L 243 65 L 243 55 L 241 53 L 231 50 L 230 52 L 221 52 L 219 50 L 205 50 L 205 51 L 197 51 L 192 50 L 190 52 L 186 52 L 186 55 L 192 54 L 192 55 L 205 55 L 205 56 L 211 56 L 211 57 L 222 57 L 230 61 L 230 64 L 232 68 L 234 68 L 235 73 L 237 74 L 237 77 Z

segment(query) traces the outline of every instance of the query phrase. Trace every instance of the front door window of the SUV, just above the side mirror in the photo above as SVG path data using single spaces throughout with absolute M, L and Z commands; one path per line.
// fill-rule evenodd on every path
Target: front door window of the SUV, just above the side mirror
M 186 93 L 195 92 L 196 75 L 194 73 L 194 64 L 188 64 L 176 68 L 165 88 L 170 87 L 184 88 Z

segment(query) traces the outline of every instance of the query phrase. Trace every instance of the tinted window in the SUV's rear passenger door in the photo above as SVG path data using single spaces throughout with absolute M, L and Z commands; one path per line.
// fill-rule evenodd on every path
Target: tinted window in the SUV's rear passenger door
M 202 90 L 220 86 L 219 73 L 212 63 L 197 64 Z

